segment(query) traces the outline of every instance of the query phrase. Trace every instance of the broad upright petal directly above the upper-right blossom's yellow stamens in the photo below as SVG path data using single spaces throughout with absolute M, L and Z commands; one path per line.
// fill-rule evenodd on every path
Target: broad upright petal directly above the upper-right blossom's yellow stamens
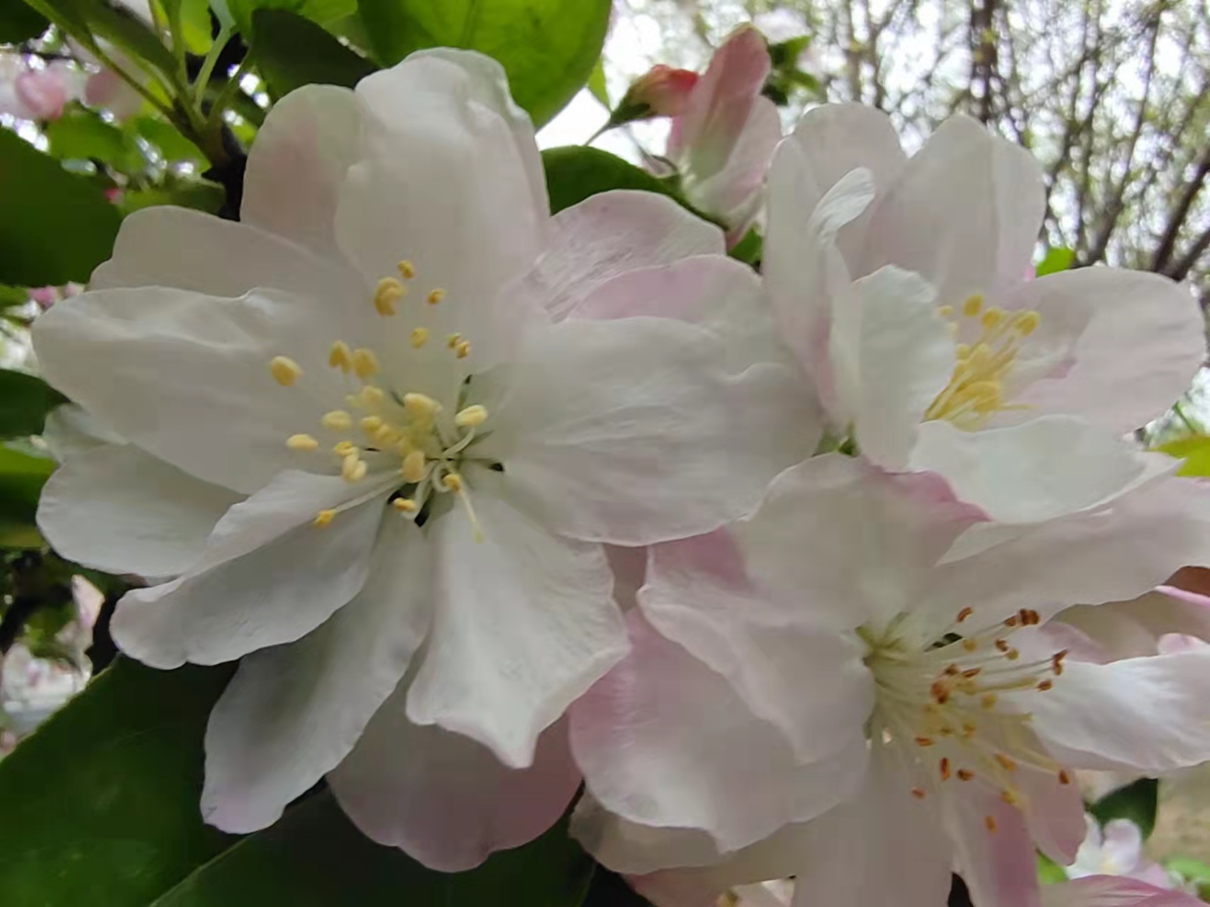
M 946 120 L 870 215 L 857 273 L 916 271 L 943 302 L 1016 283 L 1043 213 L 1042 168 L 966 116 Z

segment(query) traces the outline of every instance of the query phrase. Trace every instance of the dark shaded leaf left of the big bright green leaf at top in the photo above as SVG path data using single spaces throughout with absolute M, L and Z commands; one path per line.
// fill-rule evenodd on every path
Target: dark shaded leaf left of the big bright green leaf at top
M 352 88 L 378 69 L 301 16 L 257 10 L 253 19 L 260 73 L 277 97 L 312 82 Z

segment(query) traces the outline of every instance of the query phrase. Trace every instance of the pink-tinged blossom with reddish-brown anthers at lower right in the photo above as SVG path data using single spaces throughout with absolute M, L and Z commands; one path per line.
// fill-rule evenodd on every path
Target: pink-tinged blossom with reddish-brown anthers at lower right
M 1006 539 L 932 474 L 786 470 L 651 549 L 632 651 L 572 710 L 577 834 L 657 903 L 795 876 L 805 905 L 933 907 L 956 866 L 979 907 L 1037 905 L 1035 845 L 1084 838 L 1074 768 L 1210 758 L 1210 649 L 1100 665 L 1043 632 L 1203 556 L 1204 493 Z

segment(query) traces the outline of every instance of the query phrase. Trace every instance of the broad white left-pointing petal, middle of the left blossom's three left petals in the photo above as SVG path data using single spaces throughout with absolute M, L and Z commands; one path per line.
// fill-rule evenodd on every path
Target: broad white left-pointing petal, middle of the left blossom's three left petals
M 250 493 L 316 462 L 286 447 L 347 392 L 327 368 L 332 313 L 257 290 L 219 299 L 163 287 L 85 293 L 38 319 L 46 379 L 125 438 L 188 473 Z M 346 339 L 356 342 L 356 330 Z M 269 364 L 304 364 L 294 387 Z M 322 461 L 319 461 L 322 462 Z

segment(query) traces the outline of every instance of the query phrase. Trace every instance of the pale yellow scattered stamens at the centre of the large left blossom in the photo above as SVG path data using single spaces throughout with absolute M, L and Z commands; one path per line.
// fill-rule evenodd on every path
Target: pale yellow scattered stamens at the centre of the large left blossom
M 401 261 L 399 275 L 404 281 L 411 279 L 415 267 L 410 261 Z M 399 278 L 384 277 L 374 291 L 375 311 L 384 318 L 394 316 L 407 291 Z M 426 294 L 428 305 L 438 305 L 444 297 L 443 289 Z M 427 328 L 411 330 L 410 345 L 414 349 L 422 349 L 428 342 Z M 445 346 L 456 359 L 465 359 L 471 352 L 471 342 L 461 334 L 449 335 Z M 335 444 L 322 450 L 324 445 L 318 438 L 300 433 L 287 438 L 286 446 L 294 451 L 336 457 L 340 475 L 351 484 L 363 481 L 367 475 L 382 476 L 384 470 L 388 470 L 387 476 L 393 476 L 398 484 L 391 495 L 391 506 L 413 520 L 427 514 L 426 506 L 434 496 L 456 495 L 471 518 L 476 539 L 483 541 L 462 466 L 476 462 L 496 470 L 502 466 L 476 457 L 471 450 L 477 437 L 483 437 L 479 429 L 489 417 L 485 406 L 467 404 L 472 376 L 462 380 L 450 416 L 440 403 L 426 393 L 384 386 L 379 357 L 368 347 L 353 348 L 336 340 L 328 353 L 328 365 L 345 375 L 351 391 L 345 397 L 347 408 L 332 410 L 319 418 L 319 427 Z M 284 387 L 292 387 L 304 374 L 301 366 L 286 356 L 273 357 L 270 372 Z M 382 484 L 376 484 L 375 489 Z M 385 484 L 390 486 L 391 478 Z M 340 508 L 321 510 L 316 514 L 315 525 L 327 526 L 340 510 L 364 499 L 356 498 Z

